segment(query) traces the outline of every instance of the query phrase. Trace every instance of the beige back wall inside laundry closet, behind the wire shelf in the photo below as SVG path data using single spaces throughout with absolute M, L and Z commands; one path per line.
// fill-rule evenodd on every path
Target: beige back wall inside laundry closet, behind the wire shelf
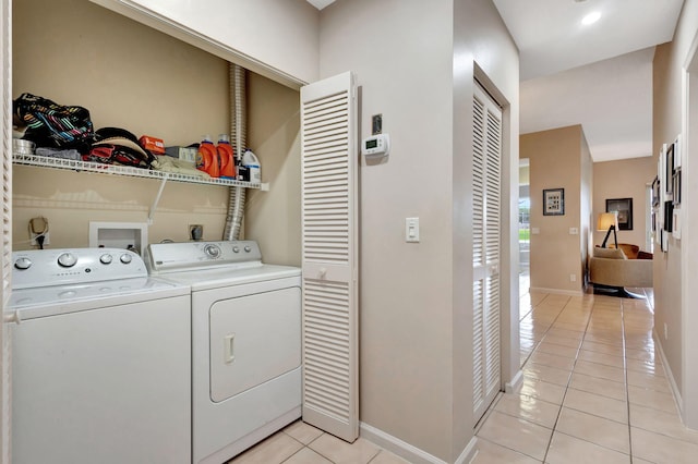
M 39 11 L 51 21 L 36 27 Z M 229 131 L 226 61 L 87 0 L 16 2 L 13 22 L 15 97 L 29 91 L 81 105 L 95 127 L 124 127 L 166 145 Z M 249 87 L 248 141 L 270 191 L 249 195 L 246 236 L 260 240 L 269 262 L 298 264 L 298 93 L 252 73 Z M 89 221 L 146 222 L 158 187 L 153 180 L 15 166 L 13 247 L 29 248 L 35 216 L 49 220 L 51 247 L 87 246 Z M 227 187 L 168 182 L 149 242 L 188 240 L 193 223 L 204 225 L 205 240 L 220 240 L 227 204 Z

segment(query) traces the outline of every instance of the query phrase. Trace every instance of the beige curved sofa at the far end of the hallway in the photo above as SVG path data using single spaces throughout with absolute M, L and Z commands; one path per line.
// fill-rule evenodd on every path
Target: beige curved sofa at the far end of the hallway
M 628 259 L 621 245 L 618 248 L 595 247 L 589 258 L 589 282 L 610 288 L 652 286 L 652 255 L 639 252 L 637 256 Z

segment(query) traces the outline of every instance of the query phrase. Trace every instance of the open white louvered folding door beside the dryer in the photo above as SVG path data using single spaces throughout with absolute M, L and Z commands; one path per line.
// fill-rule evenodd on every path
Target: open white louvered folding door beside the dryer
M 301 88 L 303 420 L 359 436 L 356 86 Z

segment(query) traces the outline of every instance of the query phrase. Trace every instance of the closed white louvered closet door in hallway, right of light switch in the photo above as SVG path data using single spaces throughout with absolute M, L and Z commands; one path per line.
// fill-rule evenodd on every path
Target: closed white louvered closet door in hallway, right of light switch
M 500 225 L 502 110 L 476 84 L 473 98 L 473 412 L 476 423 L 501 389 Z

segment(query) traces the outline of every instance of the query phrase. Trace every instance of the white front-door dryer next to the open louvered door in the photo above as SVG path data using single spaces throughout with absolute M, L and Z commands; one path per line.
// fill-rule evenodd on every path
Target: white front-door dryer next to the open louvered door
M 220 464 L 301 416 L 301 270 L 254 241 L 152 244 L 151 276 L 191 288 L 194 463 Z

